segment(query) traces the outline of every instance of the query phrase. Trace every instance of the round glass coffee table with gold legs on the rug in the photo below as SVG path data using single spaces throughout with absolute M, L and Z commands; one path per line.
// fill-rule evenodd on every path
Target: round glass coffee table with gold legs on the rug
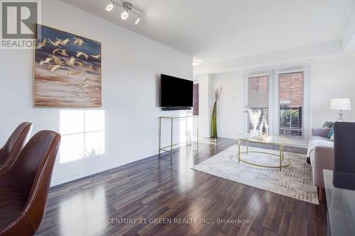
M 260 136 L 260 135 L 251 135 L 250 133 L 244 133 L 237 135 L 237 139 L 239 140 L 239 148 L 238 148 L 238 163 L 244 162 L 246 164 L 251 164 L 253 166 L 257 167 L 268 167 L 268 168 L 278 168 L 280 171 L 284 167 L 288 167 L 290 165 L 290 160 L 285 159 L 285 163 L 283 163 L 283 149 L 285 147 L 285 144 L 288 144 L 292 142 L 292 140 L 288 137 L 284 136 L 278 136 L 278 135 L 270 135 L 270 136 Z M 246 145 L 246 151 L 241 152 L 241 145 L 242 142 L 245 143 Z M 263 145 L 278 145 L 279 147 L 279 153 L 275 154 L 273 152 L 258 152 L 258 151 L 249 151 L 249 142 L 253 143 L 258 143 L 258 144 L 263 144 Z M 249 153 L 261 153 L 261 154 L 267 154 L 271 157 L 277 157 L 278 158 L 278 165 L 265 165 L 265 164 L 258 164 L 258 163 L 252 163 L 246 161 L 246 159 L 243 156 L 247 156 Z M 245 154 L 245 155 L 242 155 Z

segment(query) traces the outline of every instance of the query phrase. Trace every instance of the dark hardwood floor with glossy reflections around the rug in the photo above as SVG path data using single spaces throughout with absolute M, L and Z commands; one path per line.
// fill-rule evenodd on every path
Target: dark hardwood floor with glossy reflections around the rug
M 36 235 L 326 235 L 325 206 L 190 169 L 234 144 L 200 142 L 57 186 Z

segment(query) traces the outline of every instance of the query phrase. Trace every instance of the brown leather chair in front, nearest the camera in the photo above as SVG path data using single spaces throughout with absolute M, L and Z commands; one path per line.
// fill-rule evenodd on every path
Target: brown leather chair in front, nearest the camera
M 0 235 L 33 235 L 45 212 L 60 135 L 35 134 L 15 162 L 0 170 Z

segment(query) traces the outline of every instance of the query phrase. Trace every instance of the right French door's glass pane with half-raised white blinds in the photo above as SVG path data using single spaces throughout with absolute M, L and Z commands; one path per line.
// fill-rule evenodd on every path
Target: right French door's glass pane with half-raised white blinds
M 280 135 L 303 136 L 304 72 L 278 75 Z

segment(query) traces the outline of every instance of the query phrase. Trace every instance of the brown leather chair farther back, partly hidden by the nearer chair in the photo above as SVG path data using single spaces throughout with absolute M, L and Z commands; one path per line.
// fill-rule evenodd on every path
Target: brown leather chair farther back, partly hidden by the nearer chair
M 31 135 L 32 123 L 23 122 L 13 131 L 4 147 L 0 149 L 0 169 L 9 167 Z

